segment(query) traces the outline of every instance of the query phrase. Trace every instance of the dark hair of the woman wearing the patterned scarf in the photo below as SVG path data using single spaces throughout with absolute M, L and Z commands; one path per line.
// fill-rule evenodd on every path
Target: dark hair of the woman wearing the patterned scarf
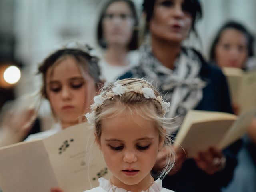
M 146 22 L 147 24 L 152 19 L 154 14 L 154 6 L 156 4 L 156 0 L 144 0 L 142 9 L 146 13 Z M 195 28 L 195 24 L 197 20 L 202 18 L 202 8 L 199 0 L 184 0 L 182 5 L 184 11 L 188 12 L 192 17 L 191 31 L 198 36 Z M 148 28 L 148 25 L 147 25 Z

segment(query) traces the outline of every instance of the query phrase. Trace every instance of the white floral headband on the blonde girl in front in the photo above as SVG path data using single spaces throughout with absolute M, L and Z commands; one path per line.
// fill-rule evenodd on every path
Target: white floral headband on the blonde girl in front
M 138 86 L 138 87 L 135 87 L 134 89 L 128 89 L 125 86 L 116 83 L 115 86 L 112 88 L 112 90 L 106 92 L 105 95 L 99 94 L 93 98 L 94 104 L 90 106 L 92 112 L 85 114 L 88 123 L 92 125 L 95 124 L 96 110 L 98 107 L 100 107 L 104 103 L 105 100 L 110 100 L 110 99 L 113 100 L 115 95 L 121 96 L 124 92 L 135 92 L 135 93 L 143 94 L 143 96 L 146 99 L 152 98 L 157 100 L 162 106 L 164 115 L 166 114 L 166 112 L 169 111 L 170 102 L 164 102 L 162 99 L 162 96 L 156 97 L 152 88 Z

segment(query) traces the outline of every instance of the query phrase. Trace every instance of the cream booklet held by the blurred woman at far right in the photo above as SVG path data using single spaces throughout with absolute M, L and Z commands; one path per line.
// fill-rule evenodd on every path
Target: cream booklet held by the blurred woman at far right
M 232 102 L 240 107 L 241 112 L 256 106 L 256 71 L 244 72 L 239 68 L 224 67 Z

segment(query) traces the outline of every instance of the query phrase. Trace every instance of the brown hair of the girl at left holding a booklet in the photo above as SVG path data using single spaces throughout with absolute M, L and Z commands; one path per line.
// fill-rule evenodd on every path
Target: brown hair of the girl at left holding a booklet
M 96 88 L 99 84 L 102 83 L 102 81 L 100 80 L 100 68 L 98 66 L 98 58 L 78 49 L 61 49 L 45 58 L 42 64 L 38 67 L 38 74 L 43 75 L 43 85 L 41 88 L 41 93 L 42 96 L 44 96 L 45 98 L 48 98 L 46 94 L 47 71 L 50 67 L 54 66 L 54 64 L 60 58 L 63 58 L 65 56 L 71 56 L 78 62 L 78 64 L 80 64 L 82 69 L 84 69 L 93 78 Z

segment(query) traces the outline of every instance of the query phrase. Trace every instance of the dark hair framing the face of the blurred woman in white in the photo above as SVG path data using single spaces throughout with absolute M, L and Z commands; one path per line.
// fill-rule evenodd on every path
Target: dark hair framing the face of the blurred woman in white
M 99 19 L 98 26 L 97 26 L 97 42 L 102 48 L 106 48 L 108 46 L 107 43 L 104 41 L 104 38 L 103 38 L 102 21 L 103 21 L 103 18 L 105 16 L 105 13 L 106 13 L 106 10 L 108 9 L 108 7 L 112 3 L 118 2 L 118 1 L 126 2 L 127 5 L 129 6 L 130 10 L 132 11 L 132 17 L 134 19 L 134 31 L 133 31 L 133 34 L 132 34 L 132 39 L 130 40 L 130 43 L 128 45 L 128 49 L 129 50 L 136 50 L 138 48 L 138 24 L 139 24 L 139 20 L 138 20 L 135 5 L 131 0 L 109 0 L 108 2 L 106 2 L 106 4 L 104 5 L 104 7 L 101 10 L 100 19 Z

